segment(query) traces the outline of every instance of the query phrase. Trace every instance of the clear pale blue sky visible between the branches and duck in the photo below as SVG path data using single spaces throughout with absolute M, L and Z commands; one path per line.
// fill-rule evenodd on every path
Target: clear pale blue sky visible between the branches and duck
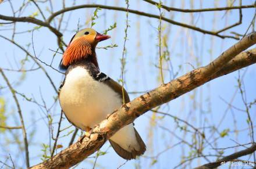
M 90 3 L 105 4 L 110 6 L 122 6 L 126 7 L 124 1 L 86 1 Z M 195 1 L 191 6 L 190 1 L 163 1 L 168 6 L 176 8 L 212 8 L 214 5 L 227 6 L 226 1 Z M 243 1 L 243 5 L 251 5 L 254 1 Z M 62 9 L 61 1 L 52 1 L 54 11 Z M 76 3 L 76 5 L 84 4 L 85 2 Z M 22 1 L 13 2 L 15 9 L 18 9 L 22 4 Z M 234 5 L 238 5 L 238 1 L 234 2 Z M 45 14 L 49 16 L 46 11 L 48 4 L 42 6 Z M 73 6 L 73 1 L 67 1 L 66 6 Z M 142 1 L 130 1 L 130 9 L 137 9 L 143 12 L 159 14 L 157 7 L 149 5 Z M 35 6 L 29 5 L 27 9 L 22 13 L 22 16 L 32 15 L 36 12 Z M 70 41 L 73 34 L 77 30 L 77 24 L 79 23 L 80 28 L 90 27 L 90 20 L 88 19 L 93 15 L 94 8 L 92 9 L 79 9 L 73 12 L 67 12 L 64 16 L 64 21 L 67 21 L 70 15 L 69 22 L 67 25 L 62 24 L 61 32 L 63 33 L 63 39 L 66 43 Z M 164 11 L 164 10 L 163 10 Z M 253 20 L 255 9 L 243 9 L 243 24 L 225 31 L 224 34 L 230 34 L 231 31 L 235 31 L 239 34 L 246 33 L 248 26 Z M 7 1 L 1 3 L 0 13 L 2 15 L 11 16 L 10 5 Z M 196 25 L 197 27 L 204 28 L 205 30 L 219 30 L 227 25 L 236 23 L 238 21 L 238 10 L 232 10 L 231 12 L 205 12 L 205 13 L 179 13 L 179 12 L 164 12 L 165 17 L 170 17 L 176 21 L 182 21 L 186 24 Z M 98 46 L 106 46 L 110 44 L 117 44 L 118 47 L 111 48 L 108 50 L 97 49 L 98 63 L 102 72 L 108 74 L 114 80 L 120 79 L 121 74 L 121 63 L 120 58 L 122 57 L 123 42 L 125 37 L 125 12 L 116 12 L 113 10 L 100 10 L 98 12 L 98 19 L 95 20 L 96 24 L 93 27 L 99 33 L 102 33 L 113 23 L 117 23 L 117 27 L 109 31 L 111 39 L 100 42 Z M 215 19 L 214 19 L 215 18 Z M 42 19 L 40 15 L 37 19 Z M 56 22 L 58 23 L 58 22 Z M 88 23 L 88 24 L 87 24 Z M 126 42 L 126 72 L 125 72 L 125 88 L 128 92 L 145 92 L 158 87 L 161 82 L 159 81 L 159 69 L 155 66 L 158 65 L 158 27 L 159 21 L 157 19 L 151 19 L 148 17 L 137 16 L 129 14 L 129 25 L 128 28 L 128 40 Z M 51 23 L 54 26 L 54 22 Z M 64 31 L 65 26 L 67 30 Z M 29 23 L 17 23 L 17 32 L 31 30 L 35 27 L 34 24 Z M 162 33 L 168 35 L 168 50 L 170 52 L 170 60 L 163 63 L 163 68 L 172 69 L 164 71 L 165 82 L 169 82 L 174 77 L 179 77 L 188 71 L 193 70 L 194 67 L 204 66 L 209 63 L 212 59 L 218 57 L 223 51 L 228 49 L 230 46 L 235 44 L 235 39 L 221 39 L 218 37 L 212 37 L 210 35 L 204 35 L 187 28 L 174 26 L 172 24 L 162 21 Z M 251 29 L 249 30 L 249 32 Z M 12 27 L 0 27 L 0 34 L 5 37 L 11 37 Z M 16 34 L 15 41 L 22 45 L 24 48 L 29 48 L 31 54 L 34 55 L 31 46 L 32 33 Z M 40 28 L 35 30 L 33 33 L 34 51 L 35 55 L 43 60 L 45 63 L 51 63 L 54 52 L 49 49 L 56 50 L 58 45 L 56 43 L 56 37 L 48 28 Z M 6 69 L 19 69 L 17 66 L 20 60 L 24 59 L 26 55 L 23 51 L 18 49 L 16 46 L 10 44 L 3 38 L 0 38 L 0 67 Z M 29 47 L 26 45 L 30 44 Z M 255 48 L 255 45 L 252 47 Z M 54 57 L 52 66 L 58 69 L 59 61 L 62 55 L 57 54 Z M 29 59 L 26 61 L 24 67 L 31 69 L 36 68 L 33 60 Z M 51 67 L 44 66 L 48 74 L 51 76 L 56 87 L 59 87 L 64 76 L 58 71 L 51 69 Z M 22 106 L 22 112 L 26 129 L 29 134 L 29 151 L 30 151 L 30 163 L 35 165 L 41 162 L 42 157 L 42 143 L 49 144 L 49 131 L 47 127 L 47 118 L 45 113 L 51 114 L 54 122 L 54 135 L 56 135 L 57 124 L 60 116 L 59 103 L 54 103 L 56 93 L 49 83 L 45 74 L 41 70 L 30 71 L 26 74 L 17 73 L 13 71 L 5 71 L 8 75 L 10 82 L 15 87 L 16 91 L 25 94 L 27 98 L 33 98 L 38 103 L 45 104 L 47 107 L 51 107 L 48 112 L 44 109 L 40 109 L 35 103 L 27 102 L 24 98 L 19 96 L 19 102 Z M 174 76 L 176 74 L 176 76 Z M 243 88 L 246 90 L 247 102 L 252 102 L 255 99 L 256 94 L 256 66 L 249 66 L 246 69 L 240 70 L 240 76 L 243 78 Z M 250 137 L 248 136 L 248 124 L 247 114 L 236 109 L 230 109 L 226 102 L 232 100 L 232 105 L 239 107 L 239 109 L 245 109 L 243 102 L 241 101 L 241 94 L 237 88 L 237 78 L 239 77 L 239 71 L 225 75 L 221 78 L 208 82 L 207 84 L 199 87 L 179 98 L 172 100 L 168 104 L 161 106 L 161 111 L 172 114 L 182 118 L 193 124 L 195 127 L 206 127 L 204 132 L 208 138 L 211 135 L 212 128 L 209 126 L 217 127 L 218 131 L 229 129 L 230 132 L 224 138 L 216 141 L 215 148 L 225 148 L 226 146 L 237 145 L 248 143 Z M 21 82 L 19 82 L 22 80 Z M 2 77 L 0 77 L 0 86 L 6 87 Z M 140 94 L 129 94 L 130 99 L 140 96 Z M 13 102 L 13 98 L 10 95 L 8 88 L 0 89 L 0 97 L 6 100 L 6 114 L 9 117 L 6 121 L 8 125 L 20 125 L 19 118 L 17 116 L 17 110 Z M 42 100 L 42 98 L 44 100 Z M 250 113 L 255 122 L 255 105 L 251 107 Z M 236 125 L 234 125 L 236 121 Z M 70 124 L 65 119 L 62 122 L 61 128 L 68 127 Z M 184 126 L 184 123 L 180 123 Z M 177 166 L 182 156 L 189 156 L 194 152 L 184 143 L 170 148 L 176 143 L 179 143 L 179 138 L 185 139 L 187 142 L 192 143 L 193 136 L 190 132 L 184 132 L 177 127 L 177 123 L 173 118 L 168 116 L 163 117 L 161 114 L 153 114 L 152 112 L 145 113 L 143 116 L 137 118 L 135 121 L 135 127 L 140 133 L 141 137 L 147 145 L 147 152 L 143 157 L 137 160 L 127 161 L 122 168 L 173 168 Z M 166 128 L 168 130 L 164 130 Z M 247 130 L 244 130 L 247 129 Z M 61 133 L 61 137 L 58 141 L 59 145 L 63 145 L 65 149 L 70 141 L 72 134 L 68 134 L 73 131 L 74 127 L 67 128 Z M 191 130 L 191 128 L 189 129 Z M 234 130 L 244 130 L 236 134 L 232 132 Z M 22 139 L 22 131 L 12 131 L 13 133 L 20 134 L 20 141 Z M 30 136 L 33 133 L 33 136 Z M 80 134 L 80 131 L 79 133 Z M 175 136 L 176 135 L 176 136 Z M 211 143 L 219 138 L 218 134 L 214 134 L 211 138 L 208 138 Z M 0 132 L 0 160 L 5 161 L 6 152 L 13 156 L 15 163 L 19 166 L 25 166 L 25 156 L 23 153 L 17 153 L 19 148 L 15 144 L 6 145 L 7 141 L 13 139 L 12 134 Z M 76 137 L 75 141 L 78 139 Z M 236 142 L 234 142 L 236 141 Z M 51 141 L 53 143 L 53 141 Z M 227 149 L 224 155 L 233 153 L 237 149 Z M 59 152 L 62 149 L 58 149 Z M 99 156 L 97 159 L 97 168 L 118 168 L 120 165 L 125 163 L 121 157 L 119 157 L 112 148 L 109 148 L 109 143 L 101 148 L 102 151 L 107 150 L 104 156 Z M 152 165 L 152 162 L 156 158 L 158 153 L 166 150 L 157 158 L 157 163 Z M 20 150 L 19 150 L 20 152 Z M 210 146 L 204 149 L 205 154 L 212 154 L 215 150 L 211 149 Z M 93 154 L 92 156 L 95 156 Z M 215 157 L 209 157 L 210 160 L 214 160 Z M 248 158 L 241 158 L 248 160 Z M 94 164 L 94 158 L 88 158 L 77 166 L 77 168 L 92 168 Z M 252 160 L 252 159 L 250 159 Z M 7 161 L 10 164 L 10 161 Z M 193 163 L 189 167 L 200 166 L 207 163 L 205 159 L 193 160 Z M 1 166 L 1 165 L 0 165 Z M 188 167 L 188 168 L 189 168 Z M 226 168 L 226 166 L 222 167 Z

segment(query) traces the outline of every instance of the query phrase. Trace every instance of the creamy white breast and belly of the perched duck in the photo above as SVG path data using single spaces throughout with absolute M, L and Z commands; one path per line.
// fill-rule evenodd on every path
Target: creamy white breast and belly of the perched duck
M 94 80 L 83 67 L 76 67 L 67 74 L 59 101 L 66 117 L 83 130 L 87 126 L 93 128 L 122 105 L 115 91 Z

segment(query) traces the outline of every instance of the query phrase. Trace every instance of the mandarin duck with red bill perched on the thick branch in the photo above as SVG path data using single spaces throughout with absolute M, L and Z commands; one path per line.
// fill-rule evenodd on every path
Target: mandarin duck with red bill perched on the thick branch
M 98 42 L 109 38 L 109 35 L 100 34 L 93 28 L 78 31 L 67 45 L 59 64 L 65 71 L 59 87 L 59 103 L 67 120 L 83 131 L 91 131 L 109 113 L 130 102 L 122 85 L 99 70 L 95 48 Z M 136 159 L 146 150 L 134 123 L 121 128 L 109 138 L 109 142 L 115 152 L 126 160 Z

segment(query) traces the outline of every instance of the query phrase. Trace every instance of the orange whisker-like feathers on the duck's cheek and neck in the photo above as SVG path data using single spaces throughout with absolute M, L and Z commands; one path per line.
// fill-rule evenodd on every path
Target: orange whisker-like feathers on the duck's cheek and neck
M 85 37 L 75 39 L 63 54 L 62 64 L 63 66 L 69 66 L 71 63 L 81 60 L 92 55 L 92 49 L 90 43 Z

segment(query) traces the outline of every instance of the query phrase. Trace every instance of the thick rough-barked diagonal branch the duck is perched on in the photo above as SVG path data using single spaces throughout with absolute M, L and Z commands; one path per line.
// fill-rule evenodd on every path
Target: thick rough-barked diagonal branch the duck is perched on
M 214 78 L 254 64 L 256 62 L 256 49 L 243 51 L 255 43 L 256 33 L 253 33 L 227 49 L 207 66 L 192 70 L 151 92 L 147 92 L 147 94 L 131 100 L 96 126 L 89 137 L 84 137 L 51 159 L 31 168 L 68 168 L 74 166 L 101 148 L 105 141 L 116 131 L 132 123 L 148 110 L 186 94 Z

